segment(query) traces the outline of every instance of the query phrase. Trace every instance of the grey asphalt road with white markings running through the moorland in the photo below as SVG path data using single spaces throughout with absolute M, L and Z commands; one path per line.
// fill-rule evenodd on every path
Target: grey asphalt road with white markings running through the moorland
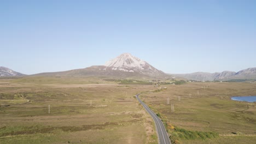
M 151 109 L 149 109 L 149 107 L 146 104 L 144 104 L 141 101 L 141 99 L 139 99 L 138 95 L 139 94 L 136 95 L 137 100 L 139 101 L 139 103 L 141 103 L 143 105 L 143 107 L 146 109 L 146 111 L 149 113 L 149 115 L 152 116 L 152 118 L 155 121 L 155 126 L 156 126 L 156 130 L 158 132 L 158 139 L 159 139 L 160 144 L 171 143 L 170 139 L 167 135 L 165 126 L 162 123 L 161 119 L 158 116 L 156 116 L 156 114 Z

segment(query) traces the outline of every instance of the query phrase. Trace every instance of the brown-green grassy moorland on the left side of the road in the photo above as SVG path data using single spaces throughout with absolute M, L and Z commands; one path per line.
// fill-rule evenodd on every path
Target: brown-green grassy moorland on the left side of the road
M 157 143 L 153 120 L 133 97 L 153 86 L 106 82 L 1 79 L 0 143 Z

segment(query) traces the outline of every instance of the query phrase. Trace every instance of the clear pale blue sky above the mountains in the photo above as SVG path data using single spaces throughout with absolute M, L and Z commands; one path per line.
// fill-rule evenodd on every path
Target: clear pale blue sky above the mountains
M 24 74 L 121 53 L 166 73 L 256 67 L 256 1 L 1 1 L 0 66 Z

